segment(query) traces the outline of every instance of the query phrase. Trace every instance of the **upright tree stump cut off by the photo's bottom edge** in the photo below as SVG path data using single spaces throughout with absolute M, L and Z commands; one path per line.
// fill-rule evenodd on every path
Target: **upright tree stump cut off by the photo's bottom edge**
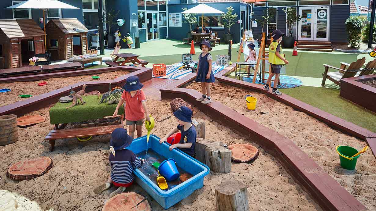
M 242 181 L 223 181 L 214 190 L 217 211 L 249 211 L 247 186 Z

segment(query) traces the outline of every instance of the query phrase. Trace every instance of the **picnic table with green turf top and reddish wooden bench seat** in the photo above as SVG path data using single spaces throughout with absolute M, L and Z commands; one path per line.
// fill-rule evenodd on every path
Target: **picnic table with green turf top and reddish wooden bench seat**
M 84 105 L 79 104 L 67 109 L 72 102 L 58 102 L 50 108 L 50 123 L 55 125 L 55 127 L 44 138 L 44 140 L 49 140 L 50 142 L 50 151 L 54 150 L 56 139 L 111 134 L 114 129 L 123 127 L 124 106 L 121 106 L 118 112 L 121 120 L 120 124 L 64 129 L 68 123 L 98 120 L 112 116 L 117 106 L 117 103 L 110 105 L 107 103 L 99 104 L 100 99 L 97 99 L 96 95 L 82 96 L 82 98 L 86 102 Z

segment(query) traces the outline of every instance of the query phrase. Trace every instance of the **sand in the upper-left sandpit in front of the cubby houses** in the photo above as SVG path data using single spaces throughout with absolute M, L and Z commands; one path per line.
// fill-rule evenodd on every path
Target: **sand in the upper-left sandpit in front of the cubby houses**
M 95 75 L 100 77 L 99 80 L 111 80 L 118 78 L 119 76 L 126 75 L 127 73 L 129 72 L 118 70 L 115 72 L 106 72 Z M 0 84 L 0 89 L 8 88 L 12 90 L 6 93 L 0 93 L 0 106 L 9 105 L 27 99 L 19 97 L 18 95 L 20 94 L 31 94 L 32 96 L 37 96 L 38 94 L 44 94 L 46 92 L 57 90 L 59 88 L 71 84 L 75 84 L 77 82 L 96 81 L 92 79 L 91 76 L 93 75 L 72 76 L 66 78 L 49 78 L 41 81 L 13 82 Z M 47 85 L 39 87 L 38 84 L 44 81 L 47 82 Z

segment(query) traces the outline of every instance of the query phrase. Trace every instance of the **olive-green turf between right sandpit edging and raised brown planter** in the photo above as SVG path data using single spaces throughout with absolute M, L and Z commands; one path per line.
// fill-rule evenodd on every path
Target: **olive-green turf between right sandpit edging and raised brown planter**
M 300 86 L 290 89 L 279 89 L 279 91 L 326 111 L 329 114 L 376 132 L 376 128 L 374 127 L 376 125 L 376 114 L 340 97 L 340 90 Z

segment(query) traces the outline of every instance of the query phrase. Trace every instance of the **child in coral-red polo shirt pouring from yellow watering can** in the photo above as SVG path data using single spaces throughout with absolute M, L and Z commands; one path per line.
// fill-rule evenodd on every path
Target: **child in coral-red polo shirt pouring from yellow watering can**
M 145 114 L 146 121 L 150 121 L 149 110 L 146 106 L 146 97 L 144 91 L 141 90 L 143 86 L 137 76 L 128 77 L 124 85 L 123 94 L 121 94 L 113 115 L 115 117 L 118 114 L 120 106 L 124 103 L 125 124 L 129 126 L 129 135 L 133 139 L 135 138 L 135 130 L 137 130 L 137 137 L 142 136 L 142 125 Z

